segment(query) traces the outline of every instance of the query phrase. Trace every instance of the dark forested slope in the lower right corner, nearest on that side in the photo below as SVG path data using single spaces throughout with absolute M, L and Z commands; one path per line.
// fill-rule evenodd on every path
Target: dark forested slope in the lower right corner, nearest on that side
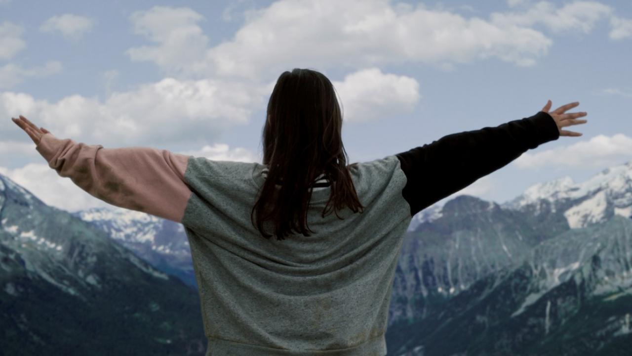
M 563 232 L 399 325 L 389 355 L 630 355 L 631 251 L 619 215 Z

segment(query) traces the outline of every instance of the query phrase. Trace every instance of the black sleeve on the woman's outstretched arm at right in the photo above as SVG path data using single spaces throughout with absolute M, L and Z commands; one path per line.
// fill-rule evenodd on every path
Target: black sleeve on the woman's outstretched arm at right
M 396 154 L 406 174 L 402 195 L 410 205 L 410 215 L 504 167 L 528 149 L 558 138 L 555 120 L 539 111 L 532 117 L 450 134 Z

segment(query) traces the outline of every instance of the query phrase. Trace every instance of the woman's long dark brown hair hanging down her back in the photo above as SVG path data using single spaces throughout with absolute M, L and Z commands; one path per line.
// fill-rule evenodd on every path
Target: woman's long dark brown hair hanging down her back
M 281 73 L 268 101 L 262 133 L 267 178 L 250 214 L 251 222 L 256 214 L 256 227 L 264 238 L 272 236 L 264 231 L 266 220 L 274 223 L 277 240 L 292 230 L 310 236 L 309 188 L 321 174 L 331 186 L 322 217 L 332 202 L 335 210 L 346 205 L 354 213 L 363 211 L 349 173 L 349 167 L 357 163 L 346 164 L 342 125 L 336 91 L 325 75 L 300 68 Z M 342 219 L 337 211 L 336 217 Z

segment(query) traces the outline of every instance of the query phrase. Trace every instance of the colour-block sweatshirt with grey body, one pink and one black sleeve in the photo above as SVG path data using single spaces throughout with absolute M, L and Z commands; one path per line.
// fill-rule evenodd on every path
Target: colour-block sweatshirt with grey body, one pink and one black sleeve
M 321 217 L 331 193 L 321 184 L 312 188 L 307 215 L 315 233 L 281 241 L 262 238 L 250 220 L 266 178 L 260 163 L 104 148 L 50 133 L 36 149 L 92 196 L 183 225 L 207 356 L 383 356 L 394 273 L 413 215 L 558 137 L 554 119 L 540 111 L 349 166 L 365 210 Z

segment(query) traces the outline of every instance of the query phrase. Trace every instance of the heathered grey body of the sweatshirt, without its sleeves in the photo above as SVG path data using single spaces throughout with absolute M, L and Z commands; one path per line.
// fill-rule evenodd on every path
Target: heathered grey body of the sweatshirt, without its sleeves
M 385 355 L 392 279 L 411 220 L 399 164 L 387 156 L 352 166 L 365 210 L 341 210 L 343 219 L 321 216 L 331 189 L 314 189 L 307 222 L 315 233 L 277 240 L 249 219 L 264 165 L 191 157 L 182 223 L 209 352 Z

